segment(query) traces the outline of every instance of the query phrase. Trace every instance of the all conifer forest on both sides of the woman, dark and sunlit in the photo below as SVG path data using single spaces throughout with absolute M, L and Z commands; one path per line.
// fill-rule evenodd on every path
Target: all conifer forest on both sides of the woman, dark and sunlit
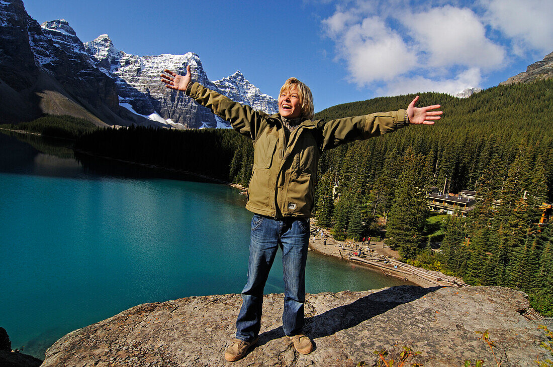
M 330 120 L 406 108 L 414 95 L 347 103 L 320 111 Z M 523 290 L 553 316 L 553 226 L 539 226 L 539 206 L 553 199 L 553 80 L 489 88 L 467 99 L 423 93 L 418 105 L 441 104 L 434 126 L 325 152 L 319 164 L 315 216 L 339 238 L 383 233 L 411 264 L 467 283 Z M 94 155 L 181 169 L 247 185 L 251 140 L 233 130 L 103 129 L 76 148 Z M 467 217 L 440 222 L 430 238 L 431 187 L 477 193 Z M 339 194 L 339 199 L 336 200 Z M 553 220 L 553 219 L 552 219 Z

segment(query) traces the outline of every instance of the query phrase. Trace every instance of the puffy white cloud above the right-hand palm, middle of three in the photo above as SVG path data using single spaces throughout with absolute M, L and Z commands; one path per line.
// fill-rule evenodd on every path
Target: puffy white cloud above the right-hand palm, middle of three
M 486 38 L 484 25 L 472 10 L 445 6 L 403 18 L 426 65 L 494 68 L 502 65 L 505 52 Z

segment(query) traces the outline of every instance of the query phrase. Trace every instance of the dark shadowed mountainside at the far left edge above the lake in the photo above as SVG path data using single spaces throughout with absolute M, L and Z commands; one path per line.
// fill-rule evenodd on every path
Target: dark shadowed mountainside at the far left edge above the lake
M 65 20 L 42 26 L 21 0 L 0 0 L 0 115 L 19 123 L 71 115 L 98 126 L 148 123 L 119 107 L 116 84 L 100 72 Z

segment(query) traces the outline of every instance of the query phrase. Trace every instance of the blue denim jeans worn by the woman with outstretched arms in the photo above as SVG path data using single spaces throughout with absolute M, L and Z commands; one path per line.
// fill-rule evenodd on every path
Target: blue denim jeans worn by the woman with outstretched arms
M 242 290 L 242 308 L 236 321 L 237 339 L 251 342 L 259 334 L 263 289 L 279 247 L 282 249 L 284 273 L 284 334 L 293 336 L 302 332 L 308 246 L 309 219 L 275 220 L 257 214 L 253 216 L 248 283 Z

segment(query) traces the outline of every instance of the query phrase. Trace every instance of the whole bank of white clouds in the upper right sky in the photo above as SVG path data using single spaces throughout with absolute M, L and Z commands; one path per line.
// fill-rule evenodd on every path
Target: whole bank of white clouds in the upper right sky
M 482 87 L 515 56 L 535 60 L 553 50 L 551 0 L 336 4 L 323 21 L 336 60 L 345 63 L 349 81 L 386 95 Z

